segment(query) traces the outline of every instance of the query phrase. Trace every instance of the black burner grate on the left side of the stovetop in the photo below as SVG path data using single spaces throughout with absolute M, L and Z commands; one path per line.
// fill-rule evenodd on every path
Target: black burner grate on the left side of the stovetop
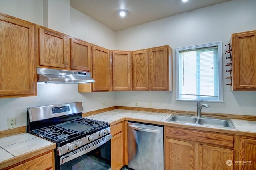
M 56 142 L 66 141 L 80 134 L 78 131 L 66 129 L 56 125 L 36 129 L 32 131 L 32 133 L 35 133 L 41 137 L 45 137 L 50 140 L 54 140 Z

